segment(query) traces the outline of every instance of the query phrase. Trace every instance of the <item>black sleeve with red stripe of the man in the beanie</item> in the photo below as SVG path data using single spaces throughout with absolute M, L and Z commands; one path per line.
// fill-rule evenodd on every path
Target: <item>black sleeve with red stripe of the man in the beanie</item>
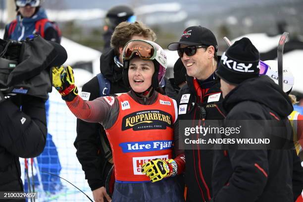
M 241 122 L 241 138 L 264 137 L 264 130 L 253 124 L 253 120 L 258 119 L 260 117 L 257 112 L 229 114 L 224 121 L 224 127 L 240 125 L 233 120 L 251 120 L 249 123 Z M 213 202 L 255 202 L 263 193 L 269 175 L 267 151 L 232 148 L 228 150 L 228 154 L 233 173 L 228 183 L 214 196 Z

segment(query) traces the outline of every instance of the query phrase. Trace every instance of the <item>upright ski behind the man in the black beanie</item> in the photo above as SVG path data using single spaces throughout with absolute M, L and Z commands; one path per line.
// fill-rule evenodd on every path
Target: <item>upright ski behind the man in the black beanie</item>
M 277 57 L 278 57 L 278 84 L 283 89 L 283 50 L 284 45 L 288 36 L 288 32 L 284 32 L 280 37 L 278 50 L 277 50 Z

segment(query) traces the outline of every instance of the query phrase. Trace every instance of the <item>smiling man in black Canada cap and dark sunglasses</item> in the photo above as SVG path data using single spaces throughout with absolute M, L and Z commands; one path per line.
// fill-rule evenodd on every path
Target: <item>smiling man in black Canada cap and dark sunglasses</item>
M 221 106 L 222 92 L 214 71 L 217 69 L 218 45 L 214 34 L 201 26 L 188 27 L 177 43 L 168 46 L 177 50 L 186 67 L 187 84 L 180 90 L 177 103 L 179 120 L 192 120 L 198 125 L 200 120 L 224 118 Z M 201 123 L 200 123 L 201 125 Z M 184 139 L 183 134 L 179 134 Z M 190 137 L 196 140 L 197 135 Z M 211 173 L 213 151 L 203 150 L 196 144 L 185 150 L 185 181 L 187 202 L 207 202 L 212 197 Z

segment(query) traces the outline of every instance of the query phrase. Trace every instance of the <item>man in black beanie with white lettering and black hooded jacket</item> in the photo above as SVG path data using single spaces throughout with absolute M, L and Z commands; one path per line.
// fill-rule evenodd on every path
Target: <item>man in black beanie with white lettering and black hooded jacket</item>
M 258 63 L 259 52 L 248 38 L 235 42 L 223 53 L 216 74 L 221 79 L 223 107 L 227 112 L 224 126 L 231 120 L 250 120 L 242 125 L 246 130 L 240 137 L 279 137 L 285 144 L 292 140 L 287 117 L 293 111 L 292 102 L 268 76 L 258 76 Z M 253 127 L 256 120 L 267 120 L 268 124 L 276 121 L 279 127 Z M 212 201 L 293 202 L 298 193 L 293 193 L 292 188 L 301 186 L 302 190 L 302 184 L 292 182 L 293 170 L 300 168 L 300 164 L 293 163 L 295 158 L 298 156 L 289 149 L 241 150 L 229 145 L 224 152 L 215 151 Z

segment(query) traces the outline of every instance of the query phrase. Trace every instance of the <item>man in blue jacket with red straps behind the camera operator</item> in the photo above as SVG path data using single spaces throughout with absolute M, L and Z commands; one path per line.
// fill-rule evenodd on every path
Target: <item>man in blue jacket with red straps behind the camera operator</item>
M 60 43 L 61 31 L 55 22 L 48 19 L 45 9 L 41 6 L 42 0 L 14 0 L 17 15 L 16 18 L 5 26 L 4 40 L 25 40 L 29 35 L 40 35 L 47 41 Z M 50 108 L 50 101 L 46 102 L 47 119 Z M 58 151 L 53 142 L 53 135 L 47 135 L 47 149 L 37 158 L 40 175 L 43 182 L 43 189 L 48 192 L 62 189 L 60 178 L 50 176 L 43 171 L 48 171 L 60 175 L 61 164 Z M 51 157 L 50 157 L 51 153 Z M 52 166 L 50 166 L 52 164 Z M 51 168 L 50 168 L 51 167 Z M 37 178 L 37 175 L 35 176 Z M 36 182 L 38 182 L 36 180 Z M 25 182 L 25 188 L 27 182 Z

